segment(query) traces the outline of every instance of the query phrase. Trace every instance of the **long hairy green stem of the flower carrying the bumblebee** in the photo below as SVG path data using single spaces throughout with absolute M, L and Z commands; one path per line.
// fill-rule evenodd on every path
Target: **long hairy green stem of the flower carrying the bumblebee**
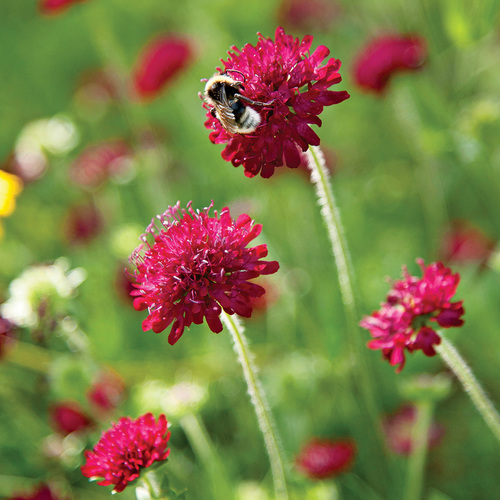
M 355 385 L 361 393 L 361 401 L 364 405 L 363 416 L 368 419 L 368 428 L 370 437 L 375 436 L 378 443 L 374 443 L 382 454 L 385 449 L 382 430 L 380 428 L 379 412 L 375 399 L 375 392 L 372 384 L 372 378 L 368 369 L 368 361 L 365 355 L 365 348 L 359 335 L 358 319 L 355 293 L 354 293 L 354 271 L 350 258 L 347 241 L 344 234 L 344 228 L 340 217 L 340 211 L 335 202 L 335 197 L 329 180 L 328 170 L 326 168 L 323 153 L 316 146 L 310 146 L 307 151 L 308 167 L 311 171 L 311 182 L 316 187 L 318 203 L 321 207 L 321 215 L 323 216 L 328 236 L 332 246 L 335 264 L 337 266 L 337 274 L 340 285 L 340 294 L 347 320 L 348 344 L 355 366 L 354 374 Z M 379 457 L 377 463 L 381 465 L 385 460 Z

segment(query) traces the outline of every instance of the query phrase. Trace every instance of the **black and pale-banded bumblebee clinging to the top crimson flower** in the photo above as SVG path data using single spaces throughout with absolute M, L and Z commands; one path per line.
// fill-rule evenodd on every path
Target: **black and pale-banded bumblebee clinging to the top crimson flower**
M 227 73 L 231 71 L 240 73 L 238 70 L 227 70 L 217 73 L 207 80 L 203 97 L 205 102 L 211 106 L 210 113 L 219 120 L 220 124 L 230 134 L 251 134 L 255 132 L 261 122 L 260 114 L 253 108 L 246 106 L 270 106 L 274 101 L 253 101 L 240 94 L 243 83 L 231 78 Z M 244 104 L 245 103 L 245 104 Z

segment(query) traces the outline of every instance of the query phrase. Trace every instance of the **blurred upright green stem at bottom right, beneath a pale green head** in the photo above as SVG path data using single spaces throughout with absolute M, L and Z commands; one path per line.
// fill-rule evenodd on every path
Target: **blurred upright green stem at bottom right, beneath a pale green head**
M 412 453 L 408 459 L 408 472 L 404 500 L 420 500 L 427 458 L 429 428 L 434 410 L 431 401 L 419 401 L 415 404 L 417 419 L 412 432 Z

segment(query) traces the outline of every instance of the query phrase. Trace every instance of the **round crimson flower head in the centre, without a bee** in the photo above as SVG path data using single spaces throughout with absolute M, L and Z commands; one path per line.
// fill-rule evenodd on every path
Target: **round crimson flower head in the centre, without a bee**
M 212 205 L 203 211 L 195 211 L 191 203 L 187 210 L 180 203 L 169 207 L 146 229 L 154 242 L 143 235 L 144 244 L 131 256 L 137 267 L 134 307 L 148 309 L 142 328 L 159 333 L 173 322 L 172 345 L 184 327 L 204 318 L 213 332 L 221 332 L 222 309 L 249 318 L 252 300 L 265 293 L 249 280 L 279 268 L 276 261 L 261 260 L 267 256 L 266 245 L 247 248 L 259 236 L 260 224 L 246 214 L 233 220 L 228 208 L 212 217 Z

